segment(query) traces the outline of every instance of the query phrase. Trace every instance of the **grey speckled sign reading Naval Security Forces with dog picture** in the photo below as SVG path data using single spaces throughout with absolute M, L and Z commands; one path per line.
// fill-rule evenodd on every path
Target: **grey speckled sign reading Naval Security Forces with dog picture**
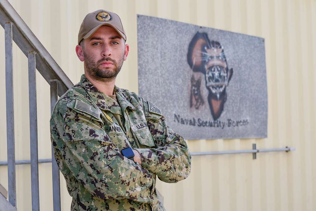
M 139 96 L 186 139 L 267 137 L 264 39 L 137 16 Z

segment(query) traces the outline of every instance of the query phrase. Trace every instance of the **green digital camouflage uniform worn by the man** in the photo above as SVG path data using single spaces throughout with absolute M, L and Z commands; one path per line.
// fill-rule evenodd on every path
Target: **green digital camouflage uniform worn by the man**
M 165 210 L 155 189 L 185 179 L 191 156 L 154 104 L 114 87 L 116 100 L 82 75 L 56 103 L 51 139 L 71 210 Z M 139 151 L 142 165 L 120 150 Z

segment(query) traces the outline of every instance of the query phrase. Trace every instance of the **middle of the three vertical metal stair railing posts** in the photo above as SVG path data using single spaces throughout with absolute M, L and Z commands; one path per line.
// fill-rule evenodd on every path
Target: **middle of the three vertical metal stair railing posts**
M 37 105 L 36 105 L 36 53 L 28 53 L 28 96 L 30 105 L 31 189 L 32 211 L 40 210 Z

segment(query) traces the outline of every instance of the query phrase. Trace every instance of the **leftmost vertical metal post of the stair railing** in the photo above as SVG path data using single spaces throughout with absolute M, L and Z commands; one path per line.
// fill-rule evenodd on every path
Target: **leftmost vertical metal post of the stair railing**
M 7 107 L 7 150 L 8 150 L 8 189 L 9 202 L 16 207 L 15 186 L 15 141 L 13 105 L 13 65 L 12 65 L 12 23 L 7 22 L 5 30 L 5 86 Z

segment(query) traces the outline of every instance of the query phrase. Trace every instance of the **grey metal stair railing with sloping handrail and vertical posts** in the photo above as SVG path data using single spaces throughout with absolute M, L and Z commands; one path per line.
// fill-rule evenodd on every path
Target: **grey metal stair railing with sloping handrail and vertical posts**
M 16 208 L 14 103 L 13 103 L 13 55 L 12 40 L 28 58 L 31 189 L 32 210 L 40 210 L 38 175 L 38 137 L 36 107 L 36 69 L 51 86 L 51 112 L 58 96 L 63 95 L 73 83 L 40 43 L 31 29 L 14 10 L 8 0 L 0 0 L 0 24 L 5 30 L 6 108 L 9 203 Z M 52 150 L 53 152 L 53 150 Z M 52 162 L 53 160 L 53 162 Z M 53 210 L 60 211 L 59 169 L 52 153 Z

